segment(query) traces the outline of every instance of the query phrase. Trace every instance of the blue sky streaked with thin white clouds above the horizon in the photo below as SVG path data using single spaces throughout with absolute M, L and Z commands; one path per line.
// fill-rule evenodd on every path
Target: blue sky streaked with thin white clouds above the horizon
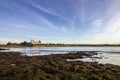
M 120 0 L 0 0 L 0 44 L 120 44 Z

